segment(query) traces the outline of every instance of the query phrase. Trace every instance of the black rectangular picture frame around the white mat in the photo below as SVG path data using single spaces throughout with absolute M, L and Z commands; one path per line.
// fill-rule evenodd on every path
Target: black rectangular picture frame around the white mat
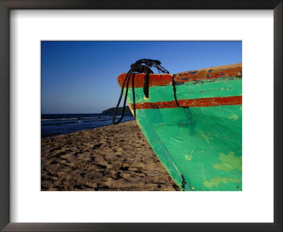
M 0 0 L 0 229 L 3 231 L 282 231 L 282 6 L 282 0 Z M 10 223 L 9 12 L 11 9 L 272 9 L 274 11 L 274 223 Z

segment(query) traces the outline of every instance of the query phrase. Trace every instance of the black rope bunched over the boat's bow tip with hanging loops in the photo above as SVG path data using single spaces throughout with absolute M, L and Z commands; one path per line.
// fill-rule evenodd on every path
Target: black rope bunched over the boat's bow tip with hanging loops
M 146 98 L 149 98 L 149 74 L 153 74 L 154 72 L 151 70 L 151 67 L 154 67 L 158 70 L 158 72 L 162 72 L 163 74 L 169 74 L 169 71 L 164 69 L 163 66 L 161 66 L 161 62 L 156 60 L 156 59 L 139 59 L 137 62 L 134 64 L 131 64 L 131 69 L 127 72 L 125 76 L 125 80 L 122 84 L 121 87 L 121 93 L 120 93 L 120 98 L 118 100 L 117 106 L 115 108 L 113 117 L 112 117 L 112 123 L 113 124 L 118 124 L 119 122 L 122 121 L 122 118 L 124 117 L 125 113 L 125 106 L 126 106 L 126 100 L 127 100 L 127 94 L 128 94 L 128 89 L 129 89 L 129 79 L 131 78 L 132 75 L 132 93 L 133 93 L 133 100 L 134 100 L 134 117 L 136 117 L 136 105 L 135 105 L 135 96 L 134 96 L 134 74 L 146 74 L 144 77 L 144 95 Z M 126 93 L 125 93 L 125 100 L 123 104 L 123 110 L 122 110 L 122 115 L 120 119 L 115 122 L 115 117 L 117 114 L 117 110 L 119 108 L 120 102 L 122 100 L 122 95 L 124 92 L 125 88 L 125 83 L 127 81 L 127 87 L 126 87 Z

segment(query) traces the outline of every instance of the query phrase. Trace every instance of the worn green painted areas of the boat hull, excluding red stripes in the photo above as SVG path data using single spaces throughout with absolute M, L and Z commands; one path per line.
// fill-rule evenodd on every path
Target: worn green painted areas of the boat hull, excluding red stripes
M 241 96 L 242 79 L 226 76 L 176 85 L 176 97 Z M 136 105 L 174 101 L 173 86 L 151 86 L 149 99 L 135 88 Z M 133 110 L 132 90 L 127 103 Z M 180 190 L 242 190 L 242 105 L 137 108 L 137 122 Z

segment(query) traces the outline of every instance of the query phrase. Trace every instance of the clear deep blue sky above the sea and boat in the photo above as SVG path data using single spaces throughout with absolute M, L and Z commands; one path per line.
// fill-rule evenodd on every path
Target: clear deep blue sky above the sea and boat
M 158 59 L 175 74 L 241 63 L 242 43 L 42 41 L 41 58 L 42 114 L 100 113 L 116 106 L 116 78 L 137 59 Z

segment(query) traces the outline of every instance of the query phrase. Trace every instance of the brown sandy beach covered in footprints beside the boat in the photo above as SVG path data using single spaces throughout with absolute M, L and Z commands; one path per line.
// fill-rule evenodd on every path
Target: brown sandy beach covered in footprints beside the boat
M 42 191 L 178 191 L 136 121 L 41 140 Z

